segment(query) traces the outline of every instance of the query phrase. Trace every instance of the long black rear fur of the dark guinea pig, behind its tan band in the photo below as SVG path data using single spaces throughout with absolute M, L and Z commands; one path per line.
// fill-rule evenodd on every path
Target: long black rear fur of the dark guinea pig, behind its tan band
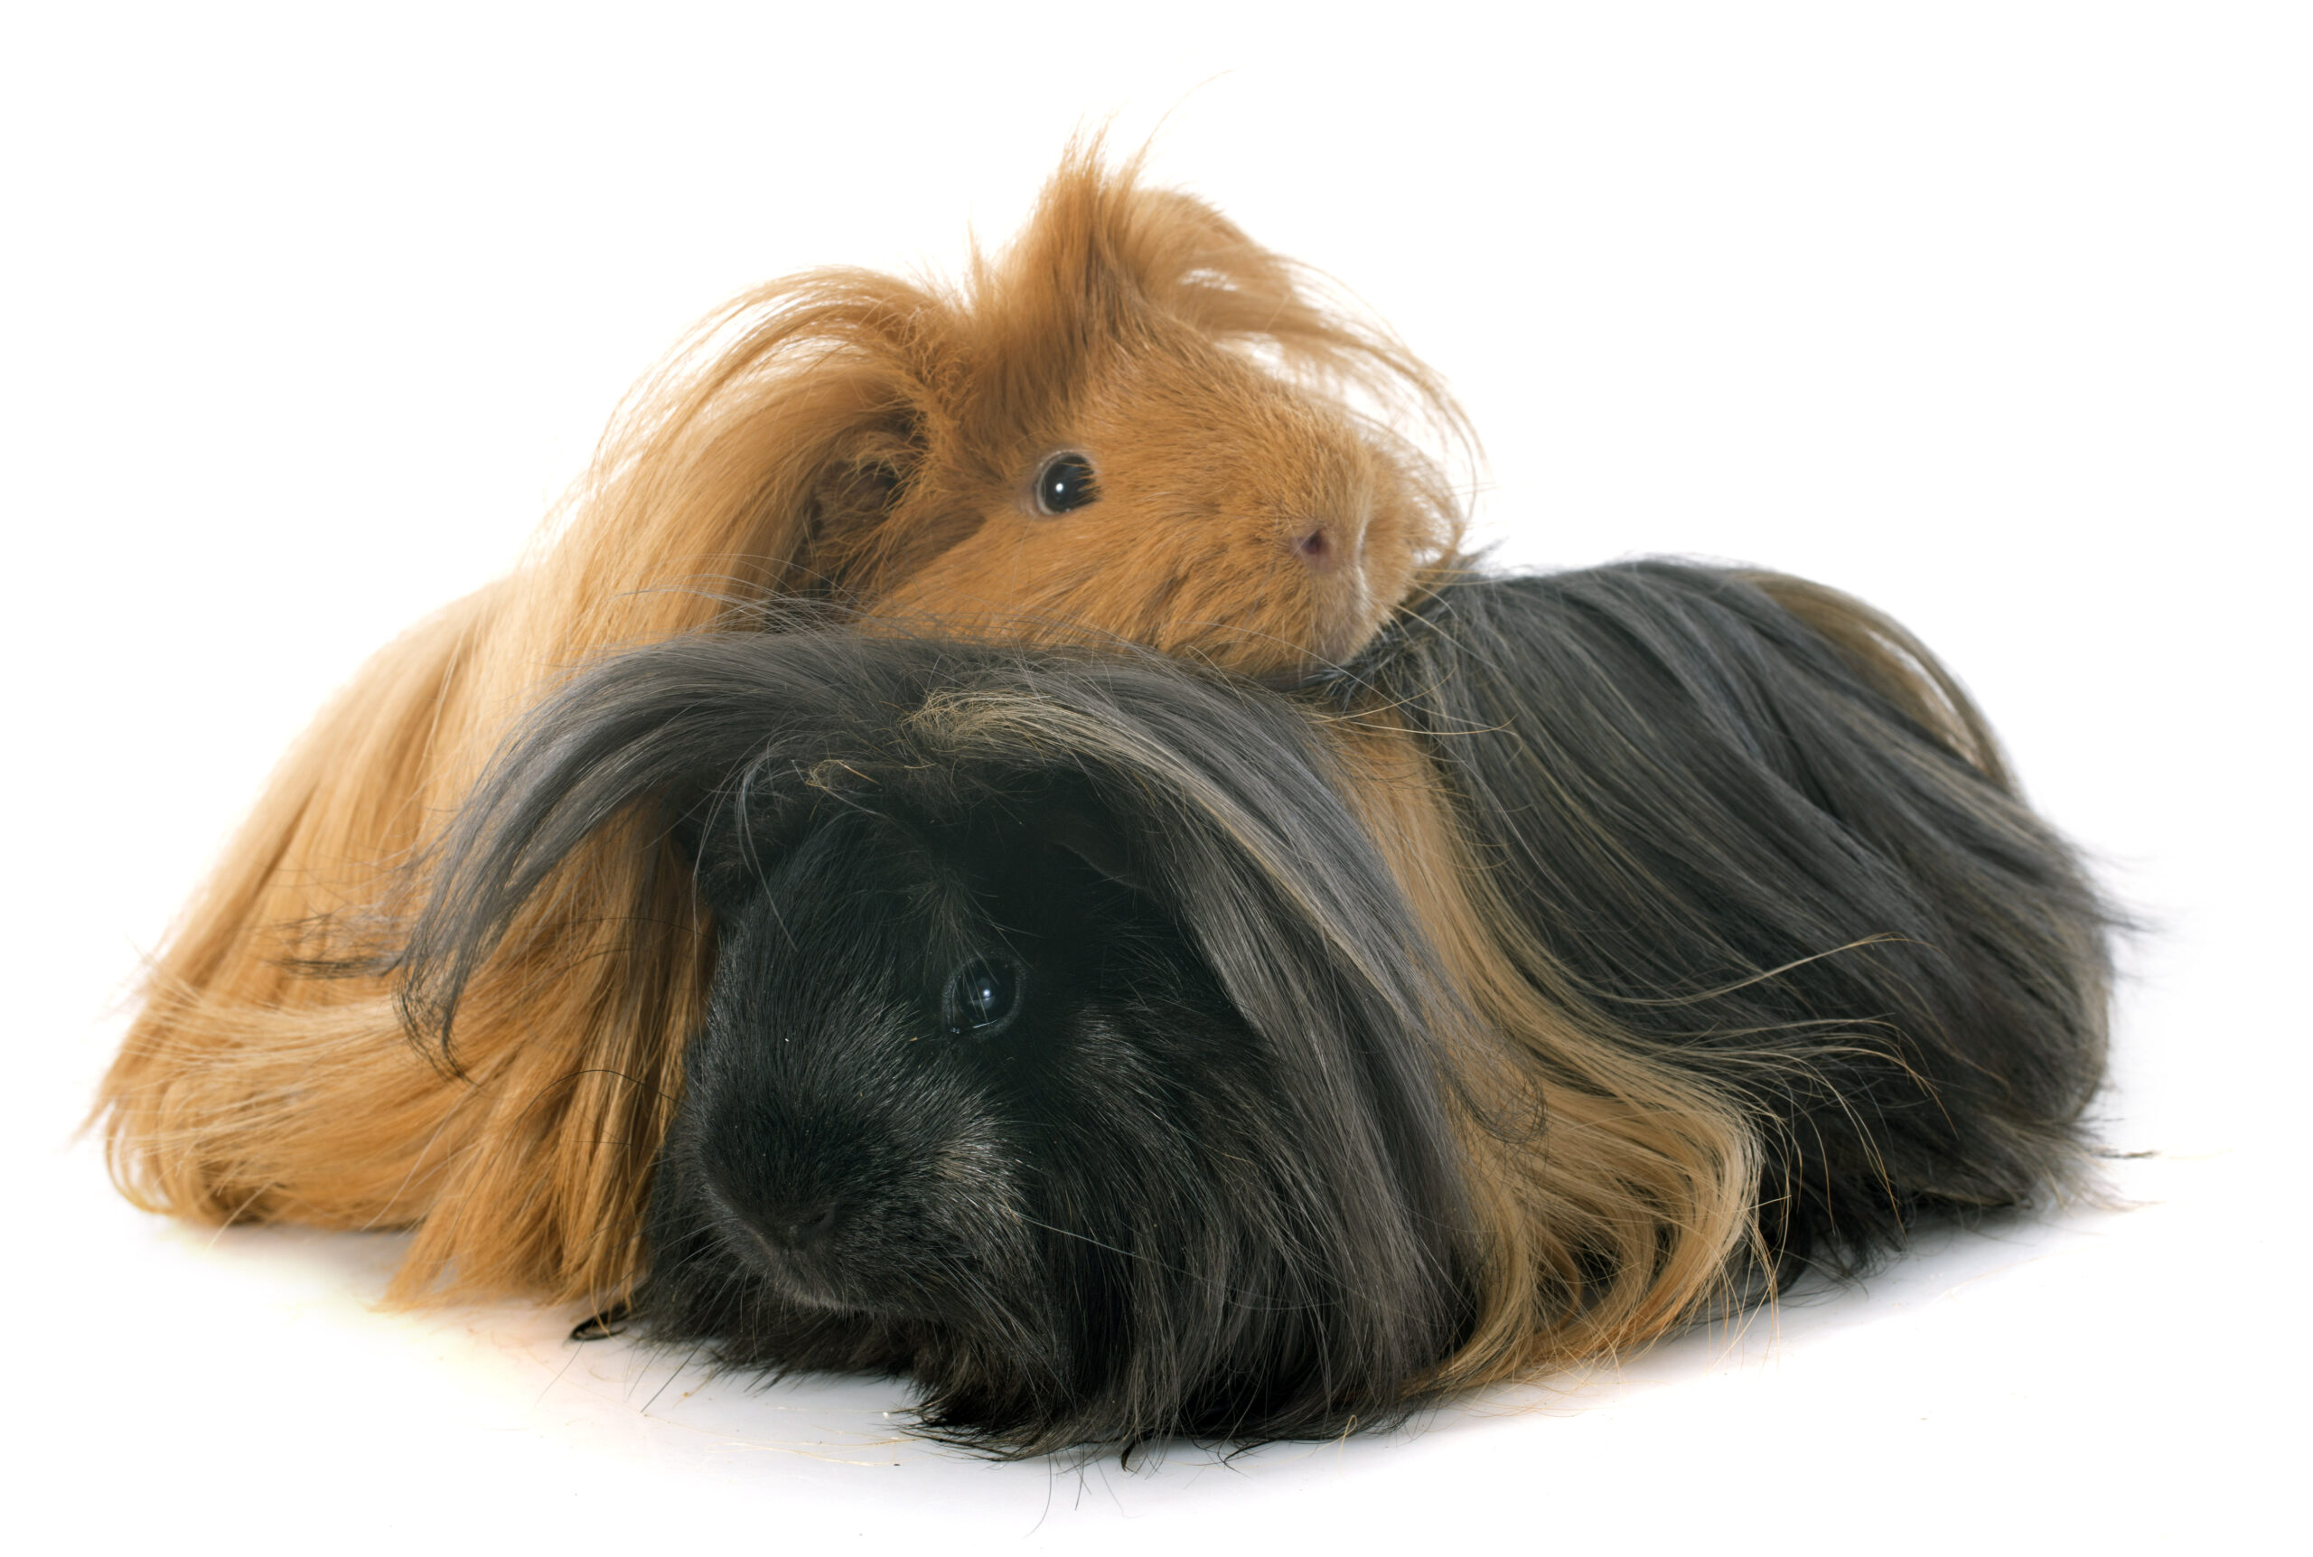
M 1351 696 L 1427 736 L 1534 976 L 1746 1099 L 1788 1275 L 2072 1178 L 2109 916 L 1924 650 L 1862 608 L 1871 645 L 1834 648 L 1760 581 L 1795 583 L 1450 585 Z

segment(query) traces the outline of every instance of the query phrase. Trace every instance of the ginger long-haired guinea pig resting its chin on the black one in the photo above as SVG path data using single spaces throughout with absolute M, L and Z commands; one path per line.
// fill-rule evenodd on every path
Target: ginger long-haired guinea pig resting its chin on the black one
M 773 282 L 708 319 L 613 423 L 518 574 L 372 659 L 305 733 L 157 960 L 104 1083 L 113 1175 L 206 1222 L 407 1226 L 396 1286 L 615 1284 L 696 1020 L 666 872 L 590 847 L 502 969 L 458 1069 L 389 986 L 310 979 L 389 912 L 507 720 L 574 664 L 812 597 L 948 636 L 1124 639 L 1298 678 L 1358 650 L 1460 537 L 1422 440 L 1460 412 L 1395 338 L 1210 206 L 1076 148 L 999 259 L 937 289 Z

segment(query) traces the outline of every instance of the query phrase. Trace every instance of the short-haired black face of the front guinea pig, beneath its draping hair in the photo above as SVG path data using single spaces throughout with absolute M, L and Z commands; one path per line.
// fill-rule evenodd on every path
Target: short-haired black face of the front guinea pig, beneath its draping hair
M 1258 1046 L 1136 891 L 1034 828 L 849 812 L 719 916 L 657 1333 L 909 1372 L 928 1425 L 1018 1448 L 1180 1425 L 1207 1372 L 1242 1395 L 1307 1356 L 1270 1335 L 1325 1296 L 1265 1254 L 1293 1194 Z

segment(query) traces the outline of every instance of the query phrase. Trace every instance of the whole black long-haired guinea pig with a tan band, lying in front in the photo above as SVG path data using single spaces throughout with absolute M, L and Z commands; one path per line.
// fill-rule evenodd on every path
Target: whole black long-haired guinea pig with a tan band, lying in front
M 456 1043 L 557 861 L 715 944 L 631 1307 L 997 1453 L 1328 1437 L 2061 1191 L 2105 916 L 1927 652 L 1631 564 L 1335 685 L 798 632 L 532 715 L 396 967 Z M 682 935 L 682 930 L 673 930 Z

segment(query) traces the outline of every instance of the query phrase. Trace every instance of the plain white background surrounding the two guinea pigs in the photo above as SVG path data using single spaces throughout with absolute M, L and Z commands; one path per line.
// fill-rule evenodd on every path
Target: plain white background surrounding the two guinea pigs
M 65 12 L 58 12 L 65 16 Z M 2301 7 L 81 7 L 5 130 L 12 1529 L 120 1550 L 2262 1550 L 2301 1538 L 2313 81 Z M 983 1464 L 391 1238 L 127 1210 L 139 955 L 359 659 L 793 268 L 953 273 L 1078 125 L 1466 400 L 1483 532 L 1827 578 L 2149 923 L 2135 1210 L 1219 1467 Z M 664 1386 L 664 1388 L 662 1388 Z M 30 1550 L 30 1548 L 21 1548 Z

